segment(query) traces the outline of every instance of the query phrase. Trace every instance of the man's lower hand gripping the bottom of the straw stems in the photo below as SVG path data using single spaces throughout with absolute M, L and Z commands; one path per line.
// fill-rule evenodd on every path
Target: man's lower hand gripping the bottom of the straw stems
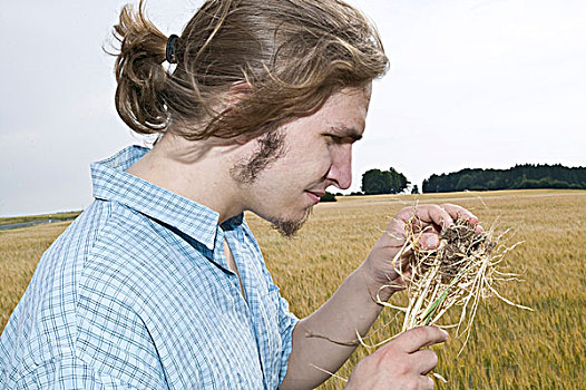
M 438 357 L 423 347 L 446 341 L 448 333 L 436 326 L 421 326 L 401 333 L 395 339 L 362 359 L 345 387 L 357 389 L 433 389 L 427 376 Z

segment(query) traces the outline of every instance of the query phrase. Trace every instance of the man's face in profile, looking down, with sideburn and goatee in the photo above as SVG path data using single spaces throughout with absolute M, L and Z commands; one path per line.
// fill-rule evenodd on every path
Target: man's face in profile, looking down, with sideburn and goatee
M 277 129 L 283 144 L 275 158 L 243 186 L 246 208 L 291 236 L 325 188 L 350 187 L 352 144 L 364 131 L 370 90 L 370 86 L 343 89 L 316 113 Z M 247 160 L 253 159 L 251 155 Z

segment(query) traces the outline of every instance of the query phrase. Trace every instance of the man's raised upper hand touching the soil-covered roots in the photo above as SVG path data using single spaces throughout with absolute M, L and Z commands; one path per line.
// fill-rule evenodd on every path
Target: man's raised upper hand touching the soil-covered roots
M 364 265 L 371 276 L 372 293 L 377 294 L 380 286 L 387 285 L 388 287 L 380 291 L 380 296 L 381 300 L 388 300 L 394 291 L 404 289 L 404 279 L 409 276 L 412 254 L 409 247 L 404 247 L 408 224 L 411 225 L 412 232 L 422 232 L 420 244 L 427 250 L 432 250 L 439 244 L 441 230 L 451 226 L 458 218 L 466 218 L 473 225 L 478 224 L 478 218 L 472 213 L 452 204 L 418 205 L 401 209 L 387 226 L 387 231 L 365 261 Z M 482 228 L 477 226 L 477 230 Z M 401 251 L 404 251 L 402 256 L 395 259 Z M 394 264 L 393 260 L 397 260 Z

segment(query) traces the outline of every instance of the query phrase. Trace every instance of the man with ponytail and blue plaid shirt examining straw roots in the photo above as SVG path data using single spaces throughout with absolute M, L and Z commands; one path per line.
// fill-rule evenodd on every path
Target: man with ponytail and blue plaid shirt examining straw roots
M 412 213 L 429 247 L 455 218 L 477 220 L 455 205 L 401 211 L 335 294 L 296 319 L 243 213 L 291 236 L 326 187 L 350 186 L 371 81 L 387 68 L 375 30 L 334 0 L 211 0 L 167 39 L 141 6 L 116 26 L 116 104 L 133 129 L 160 136 L 92 165 L 96 201 L 45 253 L 0 339 L 0 383 L 316 387 L 328 374 L 315 367 L 334 372 L 355 349 L 325 338 L 365 334 L 382 309 L 371 292 L 403 287 L 392 260 Z M 433 388 L 437 357 L 421 348 L 446 337 L 399 335 L 348 388 Z

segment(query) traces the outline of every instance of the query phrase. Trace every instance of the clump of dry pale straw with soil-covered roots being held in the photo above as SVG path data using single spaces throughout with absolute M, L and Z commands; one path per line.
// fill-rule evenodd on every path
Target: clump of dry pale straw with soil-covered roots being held
M 457 335 L 465 337 L 463 349 L 481 300 L 497 296 L 509 305 L 531 310 L 511 302 L 497 291 L 502 282 L 519 281 L 516 274 L 499 271 L 507 252 L 521 244 L 506 245 L 505 236 L 509 230 L 497 235 L 494 225 L 488 231 L 480 231 L 461 218 L 440 232 L 437 248 L 427 250 L 421 238 L 431 231 L 431 226 L 421 228 L 414 214 L 404 224 L 404 244 L 393 259 L 393 267 L 408 282 L 408 305 L 400 308 L 383 302 L 379 294 L 375 299 L 379 304 L 404 313 L 402 331 L 421 325 L 456 328 Z M 409 267 L 403 270 L 404 256 L 411 257 L 411 261 Z M 387 285 L 381 290 L 385 287 L 395 285 Z M 460 310 L 458 322 L 440 324 L 442 315 L 452 308 Z M 372 348 L 389 340 L 377 345 L 362 343 Z

